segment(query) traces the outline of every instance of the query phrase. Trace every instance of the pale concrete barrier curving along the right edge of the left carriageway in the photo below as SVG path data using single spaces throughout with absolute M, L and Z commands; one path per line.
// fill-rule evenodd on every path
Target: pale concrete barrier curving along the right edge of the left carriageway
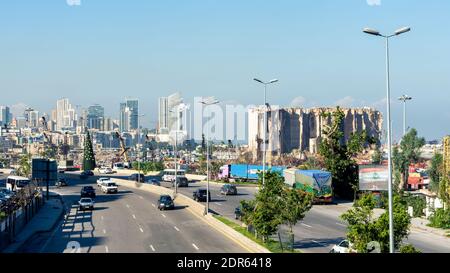
M 194 201 L 193 199 L 178 193 L 176 196 L 174 195 L 174 191 L 171 189 L 167 189 L 164 187 L 154 186 L 150 184 L 143 184 L 143 183 L 137 183 L 133 181 L 123 180 L 123 179 L 112 179 L 117 185 L 129 187 L 133 189 L 140 189 L 144 191 L 148 191 L 154 194 L 168 194 L 172 197 L 174 197 L 174 200 L 179 205 L 187 206 L 187 209 L 194 214 L 195 216 L 199 217 L 205 223 L 209 224 L 211 227 L 216 229 L 217 231 L 224 234 L 226 237 L 231 239 L 232 241 L 239 244 L 241 247 L 246 249 L 247 251 L 251 253 L 270 253 L 268 249 L 265 247 L 259 245 L 258 243 L 254 242 L 253 240 L 247 238 L 243 234 L 237 232 L 233 228 L 229 227 L 228 225 L 222 223 L 221 221 L 217 220 L 211 215 L 205 215 L 206 207 L 202 205 L 201 203 L 198 203 Z

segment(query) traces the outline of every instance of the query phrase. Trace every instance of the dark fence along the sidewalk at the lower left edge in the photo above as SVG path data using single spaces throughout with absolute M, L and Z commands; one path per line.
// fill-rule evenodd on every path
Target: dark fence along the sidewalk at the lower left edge
M 19 192 L 0 207 L 0 252 L 22 231 L 44 205 L 38 190 Z

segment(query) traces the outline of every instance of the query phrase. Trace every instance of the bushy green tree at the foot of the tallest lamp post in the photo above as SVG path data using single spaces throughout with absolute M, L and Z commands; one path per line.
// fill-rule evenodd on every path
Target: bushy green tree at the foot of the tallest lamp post
M 347 238 L 357 252 L 367 252 L 370 242 L 378 242 L 381 252 L 389 252 L 389 213 L 384 212 L 378 219 L 373 217 L 376 201 L 370 194 L 355 202 L 354 207 L 341 215 L 348 223 Z M 394 248 L 398 249 L 408 236 L 411 218 L 399 196 L 393 200 Z

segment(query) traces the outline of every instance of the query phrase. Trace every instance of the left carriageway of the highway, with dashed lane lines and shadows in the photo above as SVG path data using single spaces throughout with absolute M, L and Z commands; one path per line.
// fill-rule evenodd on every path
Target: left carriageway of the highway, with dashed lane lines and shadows
M 52 233 L 35 237 L 21 252 L 61 253 L 242 253 L 238 243 L 211 228 L 183 207 L 156 208 L 159 196 L 119 187 L 118 194 L 97 190 L 94 211 L 78 211 L 83 185 L 95 179 L 70 179 L 70 186 L 53 191 L 62 195 L 67 218 Z M 79 246 L 79 247 L 78 247 Z

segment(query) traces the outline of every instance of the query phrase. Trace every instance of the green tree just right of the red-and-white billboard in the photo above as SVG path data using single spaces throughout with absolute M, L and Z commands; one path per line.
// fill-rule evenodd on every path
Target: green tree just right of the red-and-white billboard
M 406 189 L 409 165 L 417 163 L 420 157 L 420 148 L 425 145 L 425 139 L 419 137 L 416 129 L 411 129 L 403 138 L 399 147 L 392 153 L 394 168 L 403 176 L 403 187 Z

